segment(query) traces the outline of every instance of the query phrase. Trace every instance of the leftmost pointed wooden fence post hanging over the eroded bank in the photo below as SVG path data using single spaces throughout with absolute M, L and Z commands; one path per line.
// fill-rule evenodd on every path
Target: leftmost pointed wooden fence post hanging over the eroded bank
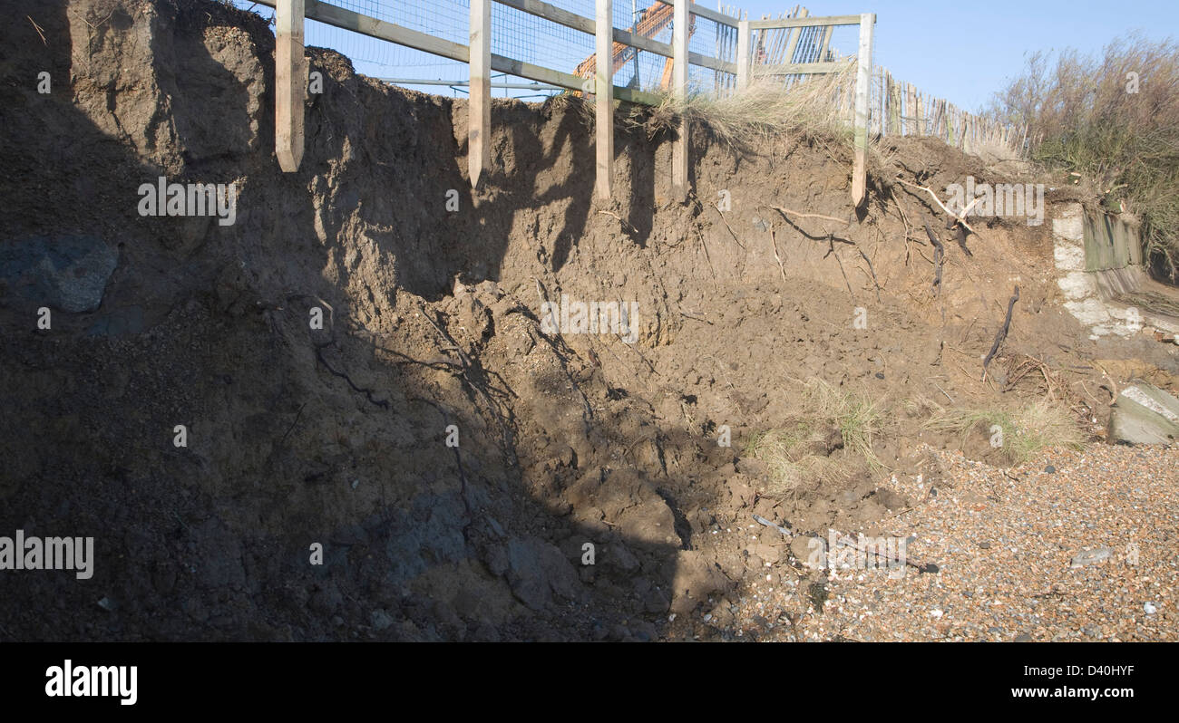
M 303 0 L 278 0 L 275 7 L 275 154 L 285 173 L 303 160 Z

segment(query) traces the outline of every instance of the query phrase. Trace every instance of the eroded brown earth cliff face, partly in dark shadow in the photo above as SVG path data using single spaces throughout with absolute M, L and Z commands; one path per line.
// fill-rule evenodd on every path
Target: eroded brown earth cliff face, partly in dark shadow
M 882 399 L 877 456 L 928 475 L 918 445 L 959 440 L 922 431 L 907 400 L 994 402 L 1028 356 L 1058 371 L 1121 359 L 1164 386 L 1179 372 L 1153 343 L 1089 341 L 1062 311 L 1050 221 L 983 225 L 970 257 L 951 243 L 928 195 L 894 179 L 1003 177 L 933 139 L 877 148 L 852 217 L 838 141 L 732 148 L 697 128 L 696 193 L 678 204 L 670 137 L 627 130 L 623 110 L 625 200 L 604 205 L 577 101 L 496 100 L 473 192 L 462 101 L 309 48 L 324 92 L 283 174 L 258 16 L 202 0 L 18 0 L 11 16 L 0 244 L 91 234 L 118 265 L 100 307 L 54 310 L 47 331 L 41 304 L 0 290 L 0 535 L 97 549 L 88 581 L 0 571 L 0 639 L 691 637 L 672 613 L 763 575 L 711 530 L 755 512 L 851 529 L 903 503 L 887 472 L 768 495 L 742 450 L 805 379 Z M 237 181 L 236 224 L 139 217 L 136 190 L 159 175 Z M 927 221 L 947 247 L 937 296 Z M 541 297 L 561 294 L 637 301 L 638 341 L 546 333 Z M 1076 370 L 1060 376 L 1096 439 L 1108 380 Z M 1006 397 L 1041 393 L 1027 379 Z

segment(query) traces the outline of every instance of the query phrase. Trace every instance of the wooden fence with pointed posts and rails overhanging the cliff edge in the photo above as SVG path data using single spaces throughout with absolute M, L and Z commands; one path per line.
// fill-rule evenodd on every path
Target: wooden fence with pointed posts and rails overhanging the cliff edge
M 751 67 L 759 66 L 759 73 L 793 78 L 819 73 L 836 73 L 848 67 L 847 62 L 826 60 L 826 47 L 831 31 L 836 26 L 859 26 L 859 53 L 857 54 L 858 74 L 855 91 L 856 164 L 852 172 L 852 201 L 858 205 L 864 198 L 864 151 L 867 148 L 870 118 L 869 99 L 872 78 L 871 49 L 872 29 L 876 15 L 836 15 L 831 18 L 810 18 L 805 8 L 795 8 L 791 16 L 763 18 L 760 20 L 743 20 L 712 11 L 691 0 L 657 0 L 670 6 L 672 16 L 671 45 L 656 41 L 653 38 L 632 33 L 613 26 L 612 1 L 595 0 L 595 18 L 584 18 L 561 9 L 542 0 L 470 0 L 470 40 L 462 45 L 428 33 L 414 31 L 377 18 L 363 15 L 322 0 L 258 0 L 261 5 L 276 8 L 277 46 L 276 46 L 276 153 L 279 166 L 285 172 L 298 168 L 303 152 L 302 107 L 307 82 L 307 62 L 303 59 L 303 20 L 309 18 L 335 27 L 354 31 L 371 38 L 378 38 L 410 48 L 467 62 L 470 68 L 470 126 L 467 133 L 467 172 L 472 187 L 477 187 L 483 171 L 490 164 L 490 73 L 500 72 L 520 78 L 527 78 L 572 91 L 593 88 L 597 118 L 597 179 L 595 195 L 600 199 L 611 197 L 611 178 L 613 175 L 613 100 L 658 105 L 663 97 L 637 88 L 613 85 L 614 62 L 618 54 L 615 45 L 621 44 L 671 58 L 671 94 L 684 99 L 687 93 L 689 65 L 711 68 L 718 73 L 717 92 L 720 92 L 719 74 L 735 79 L 737 89 L 749 85 Z M 490 12 L 493 2 L 512 7 L 525 13 L 544 18 L 565 27 L 571 27 L 594 37 L 594 62 L 585 62 L 579 71 L 592 78 L 546 68 L 512 58 L 503 58 L 490 52 Z M 666 12 L 666 11 L 661 11 Z M 718 33 L 717 58 L 689 51 L 690 15 L 697 15 L 724 26 Z M 666 20 L 665 20 L 666 21 Z M 795 48 L 799 38 L 808 28 L 825 28 L 818 45 L 817 55 L 808 57 L 806 61 L 795 62 Z M 736 32 L 737 62 L 725 60 L 729 45 Z M 817 31 L 814 31 L 817 32 Z M 751 49 L 756 33 L 756 57 Z M 771 37 L 772 35 L 772 37 Z M 766 41 L 773 44 L 771 51 L 765 49 Z M 722 42 L 726 44 L 722 48 Z M 597 59 L 606 59 L 597 62 Z M 771 62 L 772 61 L 772 62 Z M 724 87 L 730 87 L 726 80 Z M 689 124 L 681 118 L 678 134 L 672 146 L 672 188 L 674 195 L 685 199 L 689 192 Z

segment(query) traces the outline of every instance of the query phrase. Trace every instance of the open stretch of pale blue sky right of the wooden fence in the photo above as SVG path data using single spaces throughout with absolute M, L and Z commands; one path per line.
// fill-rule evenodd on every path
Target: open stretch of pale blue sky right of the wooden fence
M 777 15 L 798 2 L 724 1 L 751 18 Z M 1179 40 L 1179 0 L 814 0 L 802 5 L 811 15 L 876 13 L 876 64 L 894 78 L 968 111 L 986 104 L 1006 79 L 1019 75 L 1028 52 L 1067 47 L 1096 52 L 1133 29 L 1151 40 Z

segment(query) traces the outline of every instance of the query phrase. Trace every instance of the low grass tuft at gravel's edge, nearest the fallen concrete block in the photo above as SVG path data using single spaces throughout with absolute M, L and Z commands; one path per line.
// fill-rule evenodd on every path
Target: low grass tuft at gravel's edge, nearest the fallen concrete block
M 1085 442 L 1073 412 L 1047 398 L 1016 409 L 944 407 L 928 399 L 921 406 L 931 411 L 922 425 L 926 429 L 957 435 L 962 445 L 969 435 L 986 433 L 1013 465 L 1027 462 L 1043 449 L 1080 449 Z

